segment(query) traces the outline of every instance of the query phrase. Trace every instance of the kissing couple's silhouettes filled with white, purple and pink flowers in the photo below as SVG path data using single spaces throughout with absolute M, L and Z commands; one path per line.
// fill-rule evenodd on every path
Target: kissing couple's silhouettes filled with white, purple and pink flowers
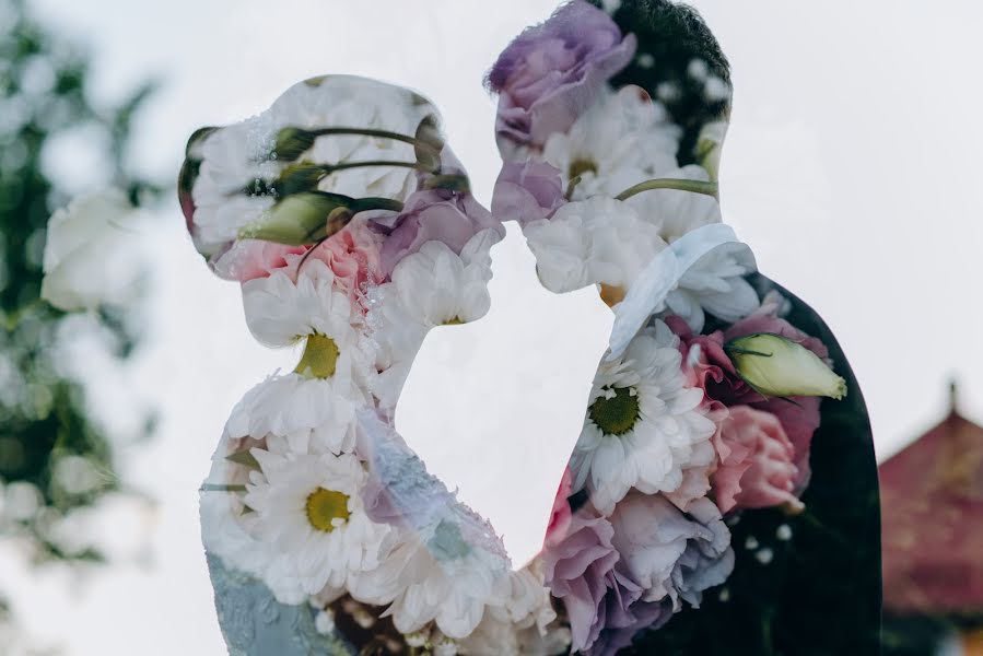
M 791 585 L 859 628 L 815 653 L 876 635 L 876 481 L 871 506 L 831 469 L 852 443 L 841 460 L 870 483 L 863 401 L 818 317 L 722 222 L 729 83 L 709 44 L 664 2 L 612 19 L 574 0 L 524 32 L 488 79 L 491 212 L 406 89 L 307 80 L 192 134 L 196 247 L 242 283 L 259 341 L 303 349 L 235 407 L 201 490 L 232 653 L 789 653 L 815 625 L 784 607 Z M 595 285 L 616 315 L 525 564 L 394 425 L 426 331 L 488 312 L 505 220 L 547 289 Z M 803 575 L 830 564 L 853 600 Z

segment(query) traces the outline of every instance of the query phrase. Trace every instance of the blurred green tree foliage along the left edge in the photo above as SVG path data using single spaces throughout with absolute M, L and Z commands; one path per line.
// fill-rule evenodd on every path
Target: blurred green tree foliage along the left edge
M 98 172 L 101 181 L 129 190 L 134 203 L 155 197 L 159 188 L 125 171 L 132 120 L 152 85 L 100 108 L 86 87 L 87 57 L 33 20 L 23 0 L 0 0 L 0 539 L 16 540 L 35 562 L 100 561 L 97 549 L 59 539 L 66 531 L 57 529 L 107 493 L 128 491 L 84 384 L 60 361 L 60 344 L 78 337 L 79 326 L 39 298 L 45 225 L 69 195 L 48 160 L 54 142 L 84 127 L 106 151 L 100 154 L 110 171 Z M 138 316 L 105 307 L 81 325 L 112 356 L 127 359 Z M 136 423 L 142 434 L 129 438 L 152 431 L 150 417 Z

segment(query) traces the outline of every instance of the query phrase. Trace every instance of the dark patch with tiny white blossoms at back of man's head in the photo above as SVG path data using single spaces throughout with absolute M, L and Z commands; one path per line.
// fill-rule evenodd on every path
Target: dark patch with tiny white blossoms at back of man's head
M 716 37 L 697 10 L 668 0 L 622 0 L 611 17 L 639 43 L 612 85 L 636 84 L 658 99 L 683 130 L 679 165 L 698 162 L 703 127 L 730 114 L 730 65 Z

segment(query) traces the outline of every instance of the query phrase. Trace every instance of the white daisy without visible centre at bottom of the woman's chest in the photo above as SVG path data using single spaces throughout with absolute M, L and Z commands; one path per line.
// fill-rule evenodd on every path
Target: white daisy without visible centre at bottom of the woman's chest
M 383 614 L 401 633 L 434 622 L 444 635 L 463 639 L 481 622 L 485 607 L 504 602 L 498 582 L 507 576 L 507 561 L 468 543 L 449 520 L 430 535 L 390 532 L 379 561 L 355 577 L 349 591 L 365 604 L 389 605 Z

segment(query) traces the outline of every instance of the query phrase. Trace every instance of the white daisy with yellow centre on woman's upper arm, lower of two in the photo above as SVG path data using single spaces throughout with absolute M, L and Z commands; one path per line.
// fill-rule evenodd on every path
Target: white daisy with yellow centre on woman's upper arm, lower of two
M 264 581 L 280 601 L 338 590 L 378 565 L 388 528 L 374 524 L 362 506 L 365 471 L 352 455 L 281 455 L 254 448 L 260 470 L 250 473 L 245 504 L 255 534 L 284 559 L 296 594 L 284 595 L 283 581 Z M 294 576 L 290 576 L 294 574 Z

